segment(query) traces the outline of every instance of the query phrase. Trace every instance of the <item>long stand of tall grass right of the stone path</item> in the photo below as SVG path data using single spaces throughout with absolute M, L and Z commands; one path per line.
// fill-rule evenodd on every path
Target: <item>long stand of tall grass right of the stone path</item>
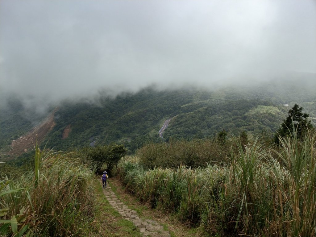
M 236 144 L 226 164 L 145 170 L 134 158 L 117 169 L 142 201 L 210 235 L 316 236 L 316 134 Z

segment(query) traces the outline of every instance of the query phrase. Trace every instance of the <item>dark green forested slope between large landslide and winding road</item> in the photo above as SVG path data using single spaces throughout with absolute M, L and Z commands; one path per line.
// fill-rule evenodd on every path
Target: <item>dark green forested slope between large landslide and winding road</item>
M 159 141 L 160 123 L 179 113 L 180 106 L 191 101 L 193 91 L 158 92 L 146 88 L 136 94 L 106 95 L 97 103 L 63 103 L 55 113 L 48 146 L 58 150 L 81 148 L 96 140 L 96 145 L 121 143 L 134 152 L 148 140 Z M 62 139 L 71 124 L 69 137 Z M 146 140 L 143 138 L 146 137 Z M 91 139 L 91 140 L 90 140 Z

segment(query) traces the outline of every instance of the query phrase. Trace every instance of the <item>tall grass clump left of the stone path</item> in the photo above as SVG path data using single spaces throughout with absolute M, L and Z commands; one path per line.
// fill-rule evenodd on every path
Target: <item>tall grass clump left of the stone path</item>
M 94 174 L 78 160 L 35 151 L 35 167 L 0 182 L 0 233 L 82 236 L 94 217 Z M 24 174 L 23 174 L 24 173 Z

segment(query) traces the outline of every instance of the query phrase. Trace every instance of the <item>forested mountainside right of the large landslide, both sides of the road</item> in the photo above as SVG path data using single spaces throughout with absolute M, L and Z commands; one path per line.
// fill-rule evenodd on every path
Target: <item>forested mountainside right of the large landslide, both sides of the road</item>
M 58 150 L 96 144 L 124 144 L 133 154 L 147 143 L 159 143 L 157 133 L 167 118 L 173 118 L 164 132 L 165 140 L 201 139 L 216 136 L 225 129 L 238 135 L 246 131 L 272 135 L 286 115 L 286 107 L 254 93 L 228 96 L 230 89 L 208 92 L 199 90 L 155 91 L 146 88 L 136 94 L 115 98 L 100 97 L 97 103 L 63 103 L 55 113 L 56 126 L 48 145 Z M 316 111 L 315 111 L 316 113 Z M 71 124 L 69 137 L 62 139 Z

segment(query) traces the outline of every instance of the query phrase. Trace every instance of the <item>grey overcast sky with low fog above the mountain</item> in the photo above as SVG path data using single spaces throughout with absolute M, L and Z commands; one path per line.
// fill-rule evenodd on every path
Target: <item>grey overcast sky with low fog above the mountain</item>
M 28 103 L 316 73 L 316 1 L 0 1 L 0 93 Z

